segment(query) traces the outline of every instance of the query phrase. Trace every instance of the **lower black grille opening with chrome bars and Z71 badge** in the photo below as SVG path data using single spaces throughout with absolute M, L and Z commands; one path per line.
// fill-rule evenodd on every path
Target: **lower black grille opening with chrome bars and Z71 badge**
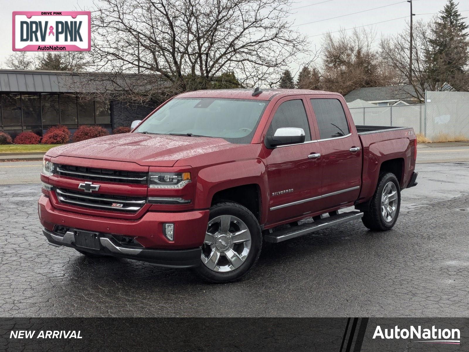
M 56 188 L 57 198 L 61 203 L 91 209 L 112 210 L 117 212 L 136 213 L 146 202 L 143 197 L 115 196 L 100 193 L 84 193 Z

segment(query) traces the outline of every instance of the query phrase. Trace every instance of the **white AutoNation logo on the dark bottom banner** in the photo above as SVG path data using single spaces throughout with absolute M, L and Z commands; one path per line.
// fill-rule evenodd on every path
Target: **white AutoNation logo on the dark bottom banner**
M 399 329 L 396 325 L 393 329 L 381 329 L 378 325 L 375 329 L 373 338 L 382 339 L 416 339 L 425 344 L 461 344 L 461 332 L 459 329 L 422 329 L 421 326 L 410 326 L 409 329 Z

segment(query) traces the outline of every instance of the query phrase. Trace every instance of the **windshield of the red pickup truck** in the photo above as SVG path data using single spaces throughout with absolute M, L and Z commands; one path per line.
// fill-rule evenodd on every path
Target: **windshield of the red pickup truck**
M 267 100 L 176 98 L 145 120 L 136 132 L 219 137 L 250 143 Z

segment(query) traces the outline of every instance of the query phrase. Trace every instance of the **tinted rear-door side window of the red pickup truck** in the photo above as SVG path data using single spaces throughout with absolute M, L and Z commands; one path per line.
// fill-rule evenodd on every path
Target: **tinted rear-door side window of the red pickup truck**
M 318 121 L 320 139 L 346 136 L 350 133 L 347 118 L 337 99 L 310 99 Z

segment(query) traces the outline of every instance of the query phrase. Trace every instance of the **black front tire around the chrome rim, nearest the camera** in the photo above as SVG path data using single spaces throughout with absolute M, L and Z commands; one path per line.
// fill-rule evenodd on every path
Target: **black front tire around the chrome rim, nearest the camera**
M 254 214 L 252 214 L 246 207 L 234 202 L 221 202 L 215 204 L 210 208 L 209 222 L 213 218 L 221 215 L 236 216 L 246 224 L 251 234 L 251 248 L 244 263 L 242 263 L 239 268 L 227 273 L 218 273 L 213 271 L 207 268 L 201 260 L 200 266 L 196 268 L 197 273 L 207 281 L 213 283 L 224 283 L 240 279 L 256 263 L 262 248 L 262 236 L 259 222 L 257 222 Z

